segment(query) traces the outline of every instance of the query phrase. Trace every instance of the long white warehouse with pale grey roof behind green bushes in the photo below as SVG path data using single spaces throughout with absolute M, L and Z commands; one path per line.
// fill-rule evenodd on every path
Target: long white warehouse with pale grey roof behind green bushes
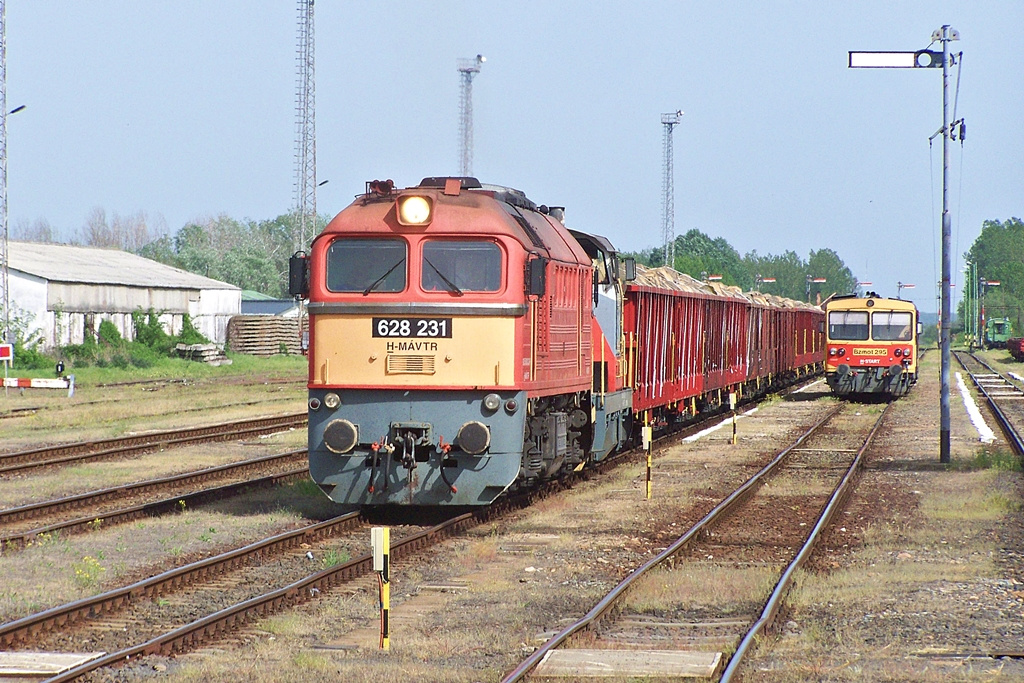
M 223 345 L 227 322 L 242 308 L 233 285 L 114 249 L 11 242 L 7 259 L 11 317 L 40 331 L 47 349 L 81 344 L 102 321 L 130 340 L 131 314 L 151 308 L 168 334 L 181 332 L 187 313 L 207 339 Z

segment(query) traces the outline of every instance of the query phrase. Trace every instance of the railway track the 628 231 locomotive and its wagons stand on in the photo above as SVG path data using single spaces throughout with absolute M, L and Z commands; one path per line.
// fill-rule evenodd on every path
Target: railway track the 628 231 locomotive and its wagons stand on
M 717 422 L 721 416 L 712 419 Z M 685 431 L 670 435 L 665 440 L 671 441 L 682 438 L 686 434 L 692 433 L 707 426 L 707 422 L 700 425 L 692 425 Z M 665 441 L 662 441 L 664 444 Z M 640 454 L 637 452 L 624 454 L 616 459 L 618 463 L 635 462 Z M 602 469 L 609 467 L 606 465 Z M 588 476 L 588 475 L 584 475 Z M 554 488 L 560 488 L 566 482 L 556 482 Z M 476 524 L 495 517 L 508 509 L 518 509 L 530 504 L 538 496 L 545 496 L 549 492 L 534 492 L 529 496 L 510 497 L 499 506 L 494 506 L 487 510 L 475 514 L 462 515 L 447 520 L 435 527 L 404 536 L 392 543 L 392 559 L 398 559 L 409 554 L 419 553 L 429 545 L 436 543 L 442 538 L 462 532 Z M 168 499 L 169 501 L 176 500 Z M 350 520 L 354 516 L 346 517 L 347 524 L 355 523 Z M 325 522 L 327 527 L 340 523 L 338 520 Z M 361 522 L 360 522 L 361 523 Z M 69 603 L 60 607 L 45 610 L 39 614 L 27 616 L 16 622 L 0 627 L 0 646 L 8 649 L 39 650 L 39 649 L 82 649 L 82 642 L 88 641 L 90 648 L 103 649 L 112 652 L 96 660 L 90 661 L 82 667 L 67 672 L 53 681 L 74 680 L 89 671 L 100 667 L 124 664 L 131 659 L 145 654 L 170 654 L 193 649 L 202 643 L 210 640 L 222 638 L 228 631 L 233 630 L 239 625 L 250 618 L 262 617 L 269 613 L 288 608 L 305 600 L 312 599 L 328 588 L 351 581 L 357 577 L 368 573 L 371 569 L 371 558 L 369 555 L 360 555 L 349 562 L 334 567 L 321 568 L 311 571 L 310 560 L 303 548 L 312 545 L 310 533 L 322 533 L 316 530 L 322 525 L 313 525 L 298 532 L 280 535 L 288 537 L 288 541 L 275 541 L 267 539 L 260 544 L 253 544 L 247 547 L 243 553 L 246 557 L 260 557 L 260 566 L 269 567 L 264 569 L 260 578 L 254 579 L 252 573 L 245 575 L 243 580 L 225 580 L 225 571 L 236 571 L 229 568 L 218 567 L 249 567 L 251 569 L 252 560 L 241 559 L 242 551 L 225 553 L 221 558 L 213 558 L 194 565 L 186 565 L 166 574 L 154 577 L 143 582 L 139 582 L 123 589 L 112 591 L 96 598 Z M 342 528 L 338 526 L 337 528 Z M 347 528 L 347 527 L 346 527 Z M 323 538 L 333 538 L 335 531 L 330 531 Z M 340 531 L 339 531 L 340 533 Z M 366 547 L 365 525 L 359 526 L 354 531 L 354 539 L 359 547 Z M 276 539 L 278 537 L 274 537 Z M 278 545 L 285 550 L 282 557 L 285 558 L 281 564 L 267 562 L 267 551 L 265 548 Z M 298 547 L 301 550 L 296 550 Z M 245 550 L 245 549 L 243 549 Z M 321 552 L 316 551 L 315 555 Z M 354 554 L 354 553 L 353 553 Z M 314 555 L 314 557 L 315 557 Z M 216 561 L 215 561 L 216 560 Z M 220 564 L 224 562 L 225 564 Z M 287 570 L 285 566 L 291 567 Z M 273 569 L 273 566 L 282 567 Z M 298 570 L 298 573 L 294 573 Z M 242 571 L 242 569 L 239 569 Z M 268 574 L 266 572 L 269 572 Z M 301 574 L 301 575 L 300 575 Z M 203 584 L 191 584 L 191 577 L 195 581 Z M 266 593 L 260 595 L 252 594 L 252 586 L 266 586 L 269 578 L 273 579 L 274 586 Z M 226 598 L 219 595 L 225 585 L 224 582 L 233 583 L 237 586 L 245 586 L 245 595 L 237 598 L 233 604 L 226 604 L 236 598 Z M 203 588 L 208 586 L 209 588 Z M 239 589 L 242 590 L 242 589 Z M 170 592 L 165 592 L 170 591 Z M 218 593 L 216 600 L 209 598 L 211 592 Z M 190 622 L 179 620 L 174 624 L 169 624 L 166 615 L 195 614 L 197 611 L 195 604 L 188 602 L 189 595 L 206 595 L 207 602 L 216 603 L 214 613 L 193 618 Z M 232 595 L 236 594 L 232 589 Z M 202 600 L 202 598 L 201 598 Z M 144 604 L 143 604 L 144 603 Z M 190 605 L 190 606 L 189 606 Z M 162 609 L 163 608 L 163 609 Z M 162 616 L 163 615 L 163 616 Z M 145 629 L 140 625 L 151 625 Z M 161 625 L 161 629 L 154 629 L 152 625 Z M 84 630 L 88 629 L 88 630 Z M 59 630 L 59 634 L 57 631 Z M 49 634 L 49 635 L 46 635 Z M 111 640 L 117 638 L 118 640 Z M 73 645 L 74 643 L 74 645 Z

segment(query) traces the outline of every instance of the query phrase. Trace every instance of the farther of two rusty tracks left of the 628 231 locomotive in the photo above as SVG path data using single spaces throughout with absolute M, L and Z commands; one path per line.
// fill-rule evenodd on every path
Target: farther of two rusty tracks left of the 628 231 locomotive
M 158 449 L 258 436 L 296 429 L 305 425 L 306 421 L 306 413 L 290 413 L 268 418 L 223 422 L 204 427 L 168 429 L 131 436 L 78 441 L 5 453 L 0 454 L 0 477 L 38 468 L 125 458 Z

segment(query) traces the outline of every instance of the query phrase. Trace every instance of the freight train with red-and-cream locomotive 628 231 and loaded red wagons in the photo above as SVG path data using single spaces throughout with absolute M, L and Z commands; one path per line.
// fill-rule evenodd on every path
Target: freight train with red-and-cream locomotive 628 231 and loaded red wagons
M 475 178 L 373 181 L 293 257 L 330 498 L 488 505 L 820 371 L 819 309 L 621 261 L 562 217 Z

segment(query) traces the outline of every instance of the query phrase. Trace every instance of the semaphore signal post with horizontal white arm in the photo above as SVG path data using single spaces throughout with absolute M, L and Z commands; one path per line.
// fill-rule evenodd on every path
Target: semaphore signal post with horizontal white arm
M 942 68 L 942 280 L 939 281 L 941 304 L 939 311 L 939 349 L 941 355 L 941 388 L 939 395 L 939 462 L 949 462 L 949 334 L 950 315 L 950 251 L 952 227 L 949 215 L 949 41 L 959 40 L 959 33 L 948 25 L 932 33 L 932 42 L 941 42 L 942 51 L 850 52 L 851 69 L 915 69 Z

